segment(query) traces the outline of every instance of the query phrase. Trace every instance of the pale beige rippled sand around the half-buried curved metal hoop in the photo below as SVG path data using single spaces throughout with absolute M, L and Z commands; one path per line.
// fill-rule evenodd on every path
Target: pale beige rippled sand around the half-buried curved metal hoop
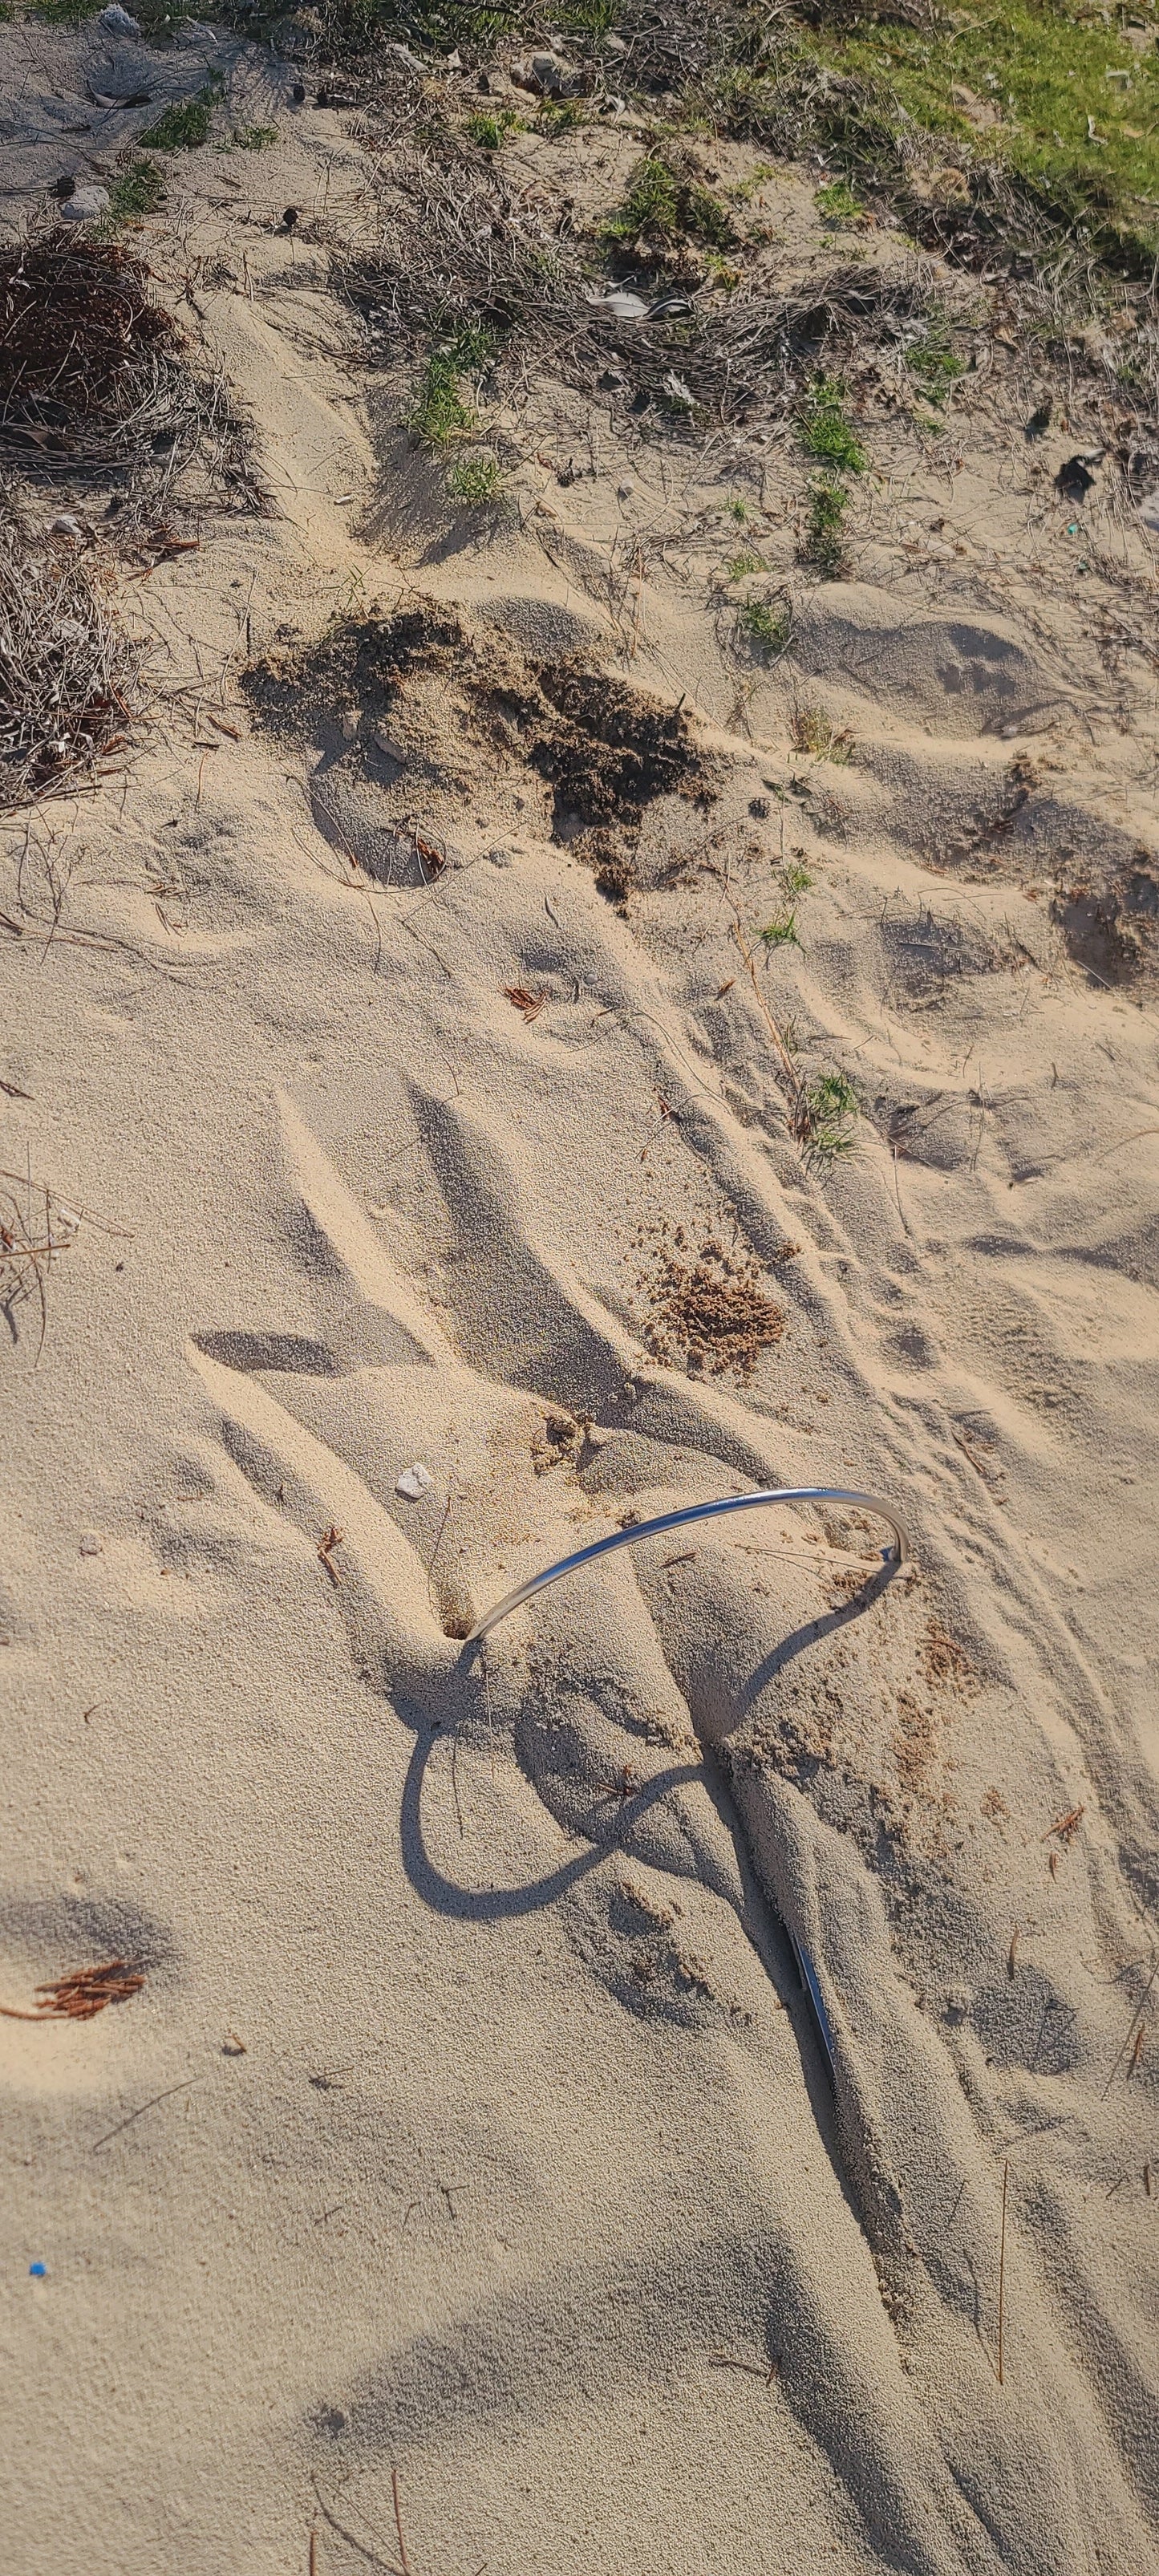
M 103 39 L 5 44 L 15 227 Z M 1051 902 L 1154 868 L 1146 549 L 1082 590 L 979 420 L 739 677 L 690 567 L 739 474 L 788 546 L 775 448 L 543 397 L 448 513 L 327 283 L 368 144 L 201 49 L 152 80 L 281 139 L 142 242 L 273 513 L 124 585 L 155 721 L 0 860 L 0 1159 L 88 1211 L 0 1352 L 0 2002 L 144 1973 L 0 2022 L 5 2566 L 1146 2576 L 1156 1007 Z M 371 603 L 685 696 L 623 914 L 438 672 L 402 760 L 355 677 L 268 721 L 247 657 Z M 829 1172 L 770 1015 L 858 1084 Z M 749 1378 L 657 1358 L 677 1229 L 780 1306 Z M 798 1481 L 912 1569 L 749 1515 L 456 1641 Z

